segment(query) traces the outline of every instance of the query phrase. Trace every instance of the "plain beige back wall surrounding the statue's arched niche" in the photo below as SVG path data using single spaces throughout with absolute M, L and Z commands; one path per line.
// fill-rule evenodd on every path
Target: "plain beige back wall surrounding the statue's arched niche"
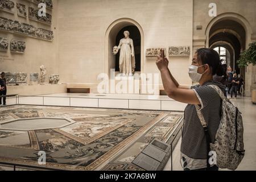
M 97 84 L 97 76 L 114 67 L 114 56 L 106 41 L 114 42 L 115 35 L 106 35 L 111 24 L 118 19 L 130 19 L 142 29 L 141 72 L 159 73 L 156 57 L 146 57 L 148 48 L 188 46 L 192 48 L 193 1 L 152 0 L 59 0 L 58 70 L 61 82 Z M 129 24 L 120 24 L 109 30 L 117 32 Z M 133 39 L 133 36 L 130 36 Z M 118 45 L 117 45 L 118 46 Z M 107 48 L 108 47 L 108 48 Z M 106 50 L 107 49 L 107 50 Z M 168 52 L 167 52 L 168 54 Z M 192 54 L 168 56 L 170 69 L 177 81 L 191 84 L 188 65 Z M 160 77 L 159 77 L 160 80 Z M 162 82 L 160 82 L 162 85 Z

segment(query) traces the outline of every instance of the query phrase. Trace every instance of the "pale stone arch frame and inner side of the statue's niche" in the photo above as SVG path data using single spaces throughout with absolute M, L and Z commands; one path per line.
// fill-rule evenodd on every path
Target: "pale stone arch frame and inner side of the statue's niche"
M 135 20 L 130 18 L 121 18 L 115 20 L 110 24 L 105 34 L 105 73 L 110 76 L 110 69 L 115 69 L 115 55 L 113 55 L 113 47 L 117 45 L 117 35 L 125 27 L 137 27 L 139 34 L 141 36 L 141 51 L 140 51 L 140 60 L 141 60 L 141 72 L 144 72 L 144 34 L 142 27 Z M 131 32 L 130 32 L 131 34 Z M 133 39 L 133 35 L 130 35 Z M 137 63 L 137 61 L 136 61 Z M 139 64 L 137 64 L 139 65 Z M 136 67 L 137 67 L 136 65 Z M 136 69 L 135 69 L 136 71 Z

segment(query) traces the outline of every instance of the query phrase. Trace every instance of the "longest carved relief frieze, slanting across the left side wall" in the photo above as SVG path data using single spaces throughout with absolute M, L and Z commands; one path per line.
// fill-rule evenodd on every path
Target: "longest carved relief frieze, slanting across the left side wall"
M 11 19 L 0 17 L 0 30 L 19 33 L 32 38 L 52 40 L 53 31 L 37 28 L 27 23 L 19 23 Z

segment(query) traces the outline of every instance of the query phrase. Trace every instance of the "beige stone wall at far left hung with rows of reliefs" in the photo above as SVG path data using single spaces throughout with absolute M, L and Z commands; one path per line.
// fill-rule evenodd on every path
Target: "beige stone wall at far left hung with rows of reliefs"
M 35 18 L 35 12 L 38 11 L 38 3 L 25 0 L 11 0 L 14 2 L 14 7 L 11 9 L 11 13 L 7 9 L 0 9 L 0 16 L 3 18 L 16 20 L 19 23 L 27 23 L 36 28 L 43 28 L 44 30 L 53 31 L 53 38 L 45 36 L 42 32 L 36 32 L 38 34 L 31 36 L 30 34 L 20 33 L 19 31 L 5 30 L 5 27 L 0 27 L 0 38 L 7 38 L 9 46 L 7 50 L 0 51 L 0 71 L 4 72 L 24 72 L 27 73 L 27 84 L 30 84 L 30 73 L 39 73 L 38 83 L 40 83 L 40 65 L 44 65 L 47 70 L 46 83 L 49 81 L 49 75 L 57 74 L 57 46 L 58 46 L 58 34 L 57 34 L 57 6 L 58 1 L 52 0 L 53 9 L 47 7 L 46 13 L 52 16 L 51 22 L 44 20 L 33 19 Z M 16 3 L 24 5 L 26 9 L 26 16 L 20 14 L 24 11 L 19 11 Z M 35 12 L 30 14 L 28 8 L 32 7 Z M 18 15 L 19 13 L 19 15 Z M 34 16 L 32 16 L 34 15 Z M 47 15 L 48 17 L 48 15 Z M 50 24 L 51 23 L 51 24 Z M 5 24 L 7 24 L 5 22 Z M 21 31 L 21 30 L 20 30 Z M 24 51 L 11 51 L 10 43 L 12 40 L 21 40 L 26 43 L 26 49 Z M 38 92 L 36 92 L 38 93 Z M 34 93 L 34 94 L 36 94 Z M 40 94 L 40 93 L 38 93 Z

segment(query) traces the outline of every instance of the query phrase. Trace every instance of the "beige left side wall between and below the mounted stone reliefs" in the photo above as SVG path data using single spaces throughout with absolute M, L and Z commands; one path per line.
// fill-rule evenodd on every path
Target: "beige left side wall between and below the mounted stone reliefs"
M 0 52 L 0 71 L 5 72 L 26 72 L 28 74 L 27 82 L 29 83 L 29 75 L 32 72 L 38 72 L 40 75 L 40 65 L 45 65 L 47 68 L 47 82 L 48 76 L 54 73 L 58 73 L 57 70 L 57 46 L 58 46 L 58 27 L 57 27 L 57 6 L 58 1 L 53 0 L 53 10 L 46 10 L 47 13 L 52 14 L 52 25 L 47 26 L 43 23 L 35 22 L 27 18 L 22 18 L 16 14 L 16 2 L 23 3 L 27 8 L 28 15 L 28 6 L 36 8 L 37 6 L 34 3 L 28 1 L 18 1 L 12 0 L 15 2 L 14 14 L 5 13 L 0 11 L 0 16 L 18 20 L 20 23 L 32 24 L 35 27 L 45 28 L 47 30 L 53 31 L 53 41 L 48 42 L 46 40 L 40 40 L 35 38 L 29 38 L 23 35 L 15 35 L 9 32 L 3 32 L 0 30 L 0 37 L 9 39 L 9 49 L 8 52 Z M 56 29 L 55 29 L 56 28 Z M 11 53 L 10 52 L 10 40 L 23 40 L 26 42 L 26 50 L 23 54 L 21 53 Z M 1 57 L 8 56 L 10 60 L 1 60 Z

